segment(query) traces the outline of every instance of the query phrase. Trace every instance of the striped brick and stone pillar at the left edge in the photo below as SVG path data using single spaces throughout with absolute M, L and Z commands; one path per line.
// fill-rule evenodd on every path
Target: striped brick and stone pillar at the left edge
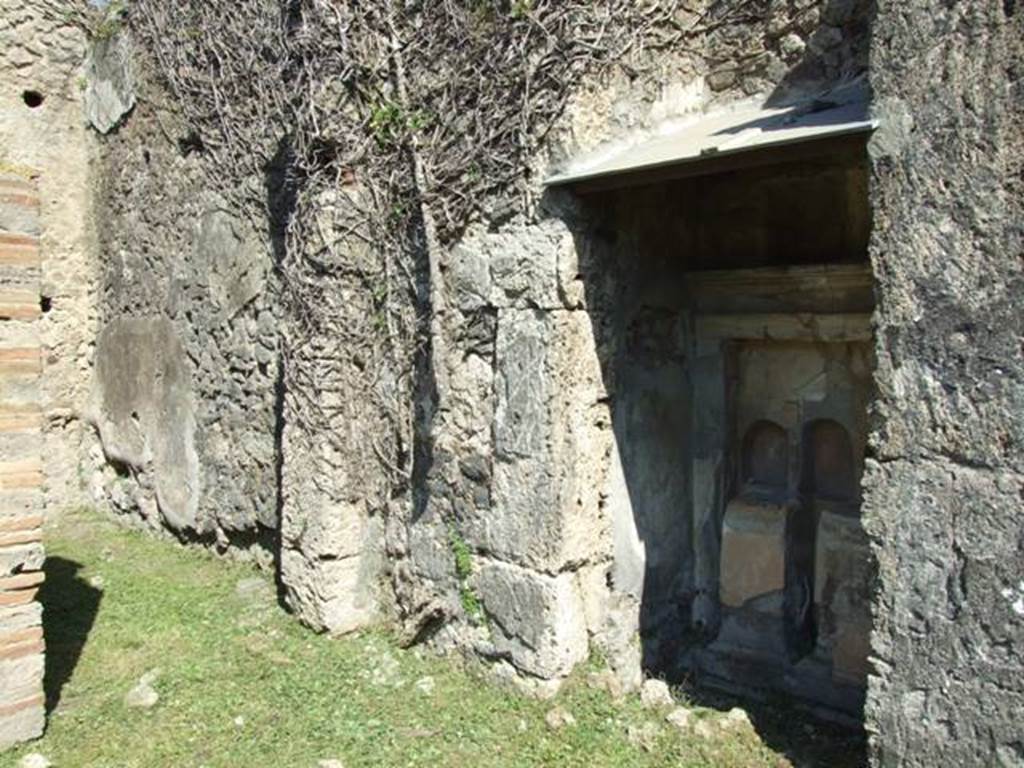
M 39 199 L 0 168 L 0 750 L 42 734 Z

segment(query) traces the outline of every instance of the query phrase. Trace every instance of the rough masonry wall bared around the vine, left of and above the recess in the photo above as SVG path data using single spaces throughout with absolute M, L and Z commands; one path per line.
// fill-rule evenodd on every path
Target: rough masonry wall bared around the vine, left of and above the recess
M 698 42 L 707 55 L 666 54 L 642 82 L 624 68 L 587 83 L 536 178 L 558 159 L 717 102 L 863 71 L 869 2 L 768 5 L 715 10 Z M 368 450 L 380 426 L 372 408 L 333 392 L 337 401 L 321 404 L 337 414 L 337 439 L 304 431 L 306 403 L 281 362 L 280 232 L 206 183 L 202 146 L 158 109 L 171 100 L 151 90 L 146 66 L 126 35 L 95 44 L 85 68 L 87 113 L 105 134 L 95 498 L 183 539 L 276 554 L 290 603 L 314 627 L 345 631 L 391 612 L 411 637 L 443 626 L 442 643 L 531 680 L 561 679 L 592 642 L 613 638 L 608 654 L 636 682 L 637 599 L 607 590 L 608 510 L 629 500 L 614 475 L 607 350 L 596 349 L 604 321 L 584 295 L 601 280 L 585 286 L 581 274 L 589 236 L 577 239 L 563 211 L 522 211 L 471 227 L 445 254 L 451 388 L 431 426 L 430 469 L 375 509 L 369 500 L 388 495 Z M 272 199 L 266 176 L 232 183 Z M 342 249 L 344 207 L 325 201 L 316 213 Z M 316 380 L 358 366 L 338 347 L 318 339 L 291 365 Z M 456 567 L 463 547 L 471 573 Z

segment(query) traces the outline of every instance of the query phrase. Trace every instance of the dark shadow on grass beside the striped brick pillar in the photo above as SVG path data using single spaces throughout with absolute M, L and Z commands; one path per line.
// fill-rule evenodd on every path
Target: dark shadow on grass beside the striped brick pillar
M 49 557 L 43 568 L 46 581 L 39 592 L 43 604 L 43 633 L 46 640 L 46 714 L 56 709 L 60 692 L 71 679 L 89 637 L 99 600 L 95 587 L 78 575 L 81 563 Z

